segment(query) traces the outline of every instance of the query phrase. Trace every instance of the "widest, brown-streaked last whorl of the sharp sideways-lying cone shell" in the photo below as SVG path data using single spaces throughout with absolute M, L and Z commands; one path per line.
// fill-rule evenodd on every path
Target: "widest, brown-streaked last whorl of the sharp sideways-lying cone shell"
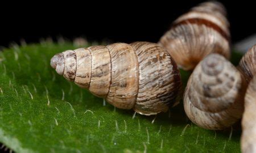
M 170 105 L 179 101 L 177 92 L 181 82 L 176 63 L 157 44 L 133 42 L 130 45 L 139 62 L 139 90 L 134 111 L 146 115 L 166 112 Z

